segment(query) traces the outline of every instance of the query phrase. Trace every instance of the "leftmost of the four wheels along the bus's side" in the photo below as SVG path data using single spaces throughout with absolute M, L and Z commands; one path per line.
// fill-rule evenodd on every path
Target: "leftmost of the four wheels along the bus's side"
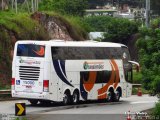
M 63 94 L 63 104 L 68 105 L 71 102 L 71 92 L 69 89 L 66 89 Z

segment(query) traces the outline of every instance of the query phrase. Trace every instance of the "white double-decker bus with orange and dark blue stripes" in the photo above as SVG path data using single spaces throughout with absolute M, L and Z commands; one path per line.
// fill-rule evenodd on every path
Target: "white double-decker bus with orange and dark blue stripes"
M 119 101 L 132 85 L 125 45 L 93 41 L 18 41 L 12 63 L 12 97 L 31 104 L 80 100 Z

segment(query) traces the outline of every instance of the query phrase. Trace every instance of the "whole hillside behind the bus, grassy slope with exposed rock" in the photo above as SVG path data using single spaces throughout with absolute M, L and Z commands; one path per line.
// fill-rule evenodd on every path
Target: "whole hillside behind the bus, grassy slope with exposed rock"
M 17 40 L 85 40 L 87 33 L 54 13 L 0 12 L 0 88 L 10 83 L 11 62 Z

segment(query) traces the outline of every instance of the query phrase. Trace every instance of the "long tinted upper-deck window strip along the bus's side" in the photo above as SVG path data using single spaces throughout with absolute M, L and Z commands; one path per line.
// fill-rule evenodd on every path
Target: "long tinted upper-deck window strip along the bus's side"
M 52 58 L 60 60 L 121 59 L 121 48 L 52 47 Z

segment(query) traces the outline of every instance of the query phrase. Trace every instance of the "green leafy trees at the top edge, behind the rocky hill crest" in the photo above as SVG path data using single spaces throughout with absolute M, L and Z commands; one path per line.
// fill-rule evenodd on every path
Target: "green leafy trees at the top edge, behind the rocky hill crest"
M 42 0 L 40 10 L 83 16 L 87 5 L 87 0 Z

